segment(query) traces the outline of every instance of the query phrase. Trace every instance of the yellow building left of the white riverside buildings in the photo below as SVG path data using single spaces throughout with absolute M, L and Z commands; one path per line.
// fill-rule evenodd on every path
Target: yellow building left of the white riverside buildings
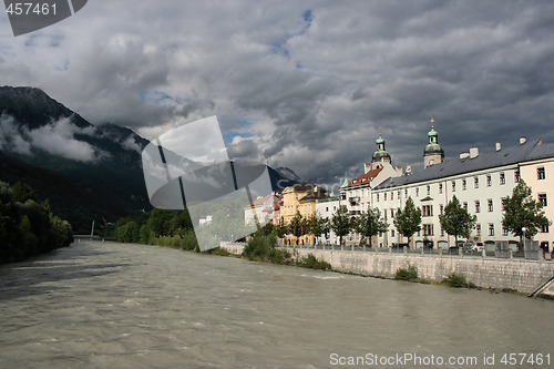
M 297 184 L 287 187 L 283 191 L 283 205 L 280 207 L 280 219 L 285 225 L 290 224 L 290 221 L 297 213 L 300 213 L 304 219 L 316 215 L 316 201 L 326 197 L 326 189 L 316 185 Z M 290 230 L 291 232 L 291 230 Z M 295 237 L 287 235 L 286 240 L 290 244 L 306 245 L 312 244 L 312 235 L 304 235 Z

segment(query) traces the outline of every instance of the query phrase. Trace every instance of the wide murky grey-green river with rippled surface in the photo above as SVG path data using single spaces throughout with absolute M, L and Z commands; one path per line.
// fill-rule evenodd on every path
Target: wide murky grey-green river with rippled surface
M 117 243 L 0 266 L 0 368 L 554 365 L 554 301 Z

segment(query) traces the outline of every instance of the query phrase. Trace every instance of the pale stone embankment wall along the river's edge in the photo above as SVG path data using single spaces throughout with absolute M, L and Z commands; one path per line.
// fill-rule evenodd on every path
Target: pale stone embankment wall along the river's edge
M 229 253 L 240 254 L 243 246 L 225 245 Z M 293 249 L 290 249 L 293 252 Z M 399 268 L 413 265 L 420 278 L 441 281 L 451 274 L 465 277 L 478 287 L 515 290 L 531 294 L 554 277 L 554 262 L 519 258 L 481 258 L 458 255 L 417 255 L 394 253 L 363 253 L 348 250 L 295 249 L 298 256 L 312 254 L 329 263 L 335 270 L 362 276 L 393 278 Z M 554 296 L 554 286 L 543 294 Z

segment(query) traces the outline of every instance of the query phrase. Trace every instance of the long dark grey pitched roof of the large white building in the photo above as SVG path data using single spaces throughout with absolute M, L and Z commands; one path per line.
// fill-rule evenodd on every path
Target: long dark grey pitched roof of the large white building
M 473 158 L 455 158 L 434 164 L 412 175 L 391 177 L 375 189 L 403 186 L 552 156 L 554 156 L 554 145 L 543 145 L 540 140 L 536 140 L 517 146 L 502 148 L 493 153 L 480 154 Z

